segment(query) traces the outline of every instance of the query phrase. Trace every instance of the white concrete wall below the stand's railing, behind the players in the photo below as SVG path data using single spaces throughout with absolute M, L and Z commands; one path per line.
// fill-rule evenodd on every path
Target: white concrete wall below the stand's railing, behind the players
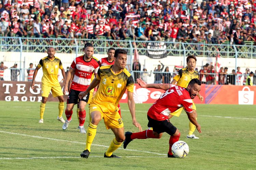
M 82 54 L 78 54 L 82 55 Z M 28 68 L 29 63 L 38 64 L 40 59 L 47 56 L 47 53 L 32 53 L 32 52 L 23 52 L 22 53 L 22 64 L 21 68 Z M 63 67 L 66 69 L 69 67 L 72 63 L 72 61 L 75 58 L 75 54 L 70 53 L 56 53 L 56 57 L 59 57 L 61 59 L 61 62 L 63 64 Z M 95 57 L 98 59 L 106 57 L 106 54 L 94 54 Z M 141 68 L 146 68 L 147 71 L 153 71 L 155 67 L 157 67 L 158 64 L 160 64 L 158 61 L 161 61 L 165 66 L 169 66 L 170 72 L 173 71 L 173 68 L 175 65 L 183 65 L 183 56 L 168 56 L 166 58 L 162 59 L 152 59 L 145 55 L 139 56 L 139 61 L 141 63 Z M 19 52 L 0 52 L 0 61 L 4 62 L 4 65 L 8 68 L 12 67 L 14 63 L 18 64 L 18 68 L 20 68 L 20 53 Z M 130 64 L 131 58 L 128 56 L 128 62 L 127 64 Z M 133 62 L 133 61 L 132 61 Z M 185 61 L 186 62 L 186 61 Z M 205 65 L 206 63 L 215 63 L 215 57 L 197 57 L 197 66 L 198 70 L 201 69 L 202 65 Z M 186 65 L 186 63 L 185 63 Z M 221 58 L 221 65 L 222 67 L 228 67 L 228 73 L 231 73 L 232 69 L 235 69 L 235 58 Z M 256 58 L 238 58 L 238 64 L 237 66 L 241 67 L 241 72 L 244 73 L 246 68 L 250 68 L 251 71 L 256 70 Z M 25 70 L 24 70 L 25 71 Z M 25 71 L 25 75 L 26 71 Z M 4 72 L 4 77 L 6 80 L 10 78 L 10 71 Z M 38 76 L 36 78 L 36 81 L 40 81 L 42 77 L 42 69 L 39 70 Z M 60 75 L 60 79 L 61 79 Z M 154 76 L 152 75 L 151 78 L 154 80 Z M 19 80 L 19 79 L 18 79 Z M 26 78 L 25 78 L 26 80 Z

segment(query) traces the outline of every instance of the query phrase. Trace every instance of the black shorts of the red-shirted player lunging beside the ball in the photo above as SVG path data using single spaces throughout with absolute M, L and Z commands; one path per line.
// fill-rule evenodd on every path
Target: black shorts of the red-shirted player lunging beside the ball
M 154 132 L 157 132 L 158 134 L 166 132 L 169 135 L 173 135 L 177 128 L 175 126 L 173 126 L 173 124 L 171 124 L 171 122 L 169 120 L 155 120 L 152 119 L 151 117 L 147 116 L 148 119 L 148 127 L 153 128 Z

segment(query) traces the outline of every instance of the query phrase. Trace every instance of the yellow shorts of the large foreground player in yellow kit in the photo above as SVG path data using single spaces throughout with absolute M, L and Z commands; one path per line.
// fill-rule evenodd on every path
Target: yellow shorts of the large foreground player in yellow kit
M 102 118 L 104 119 L 104 123 L 107 130 L 112 128 L 124 127 L 123 120 L 118 114 L 118 112 L 115 112 L 115 113 L 102 112 L 102 109 L 99 107 L 99 105 L 93 103 L 89 105 L 89 114 L 91 114 L 91 112 L 94 112 L 94 111 L 98 111 L 101 113 L 101 119 Z M 91 121 L 91 117 L 90 117 L 90 121 Z

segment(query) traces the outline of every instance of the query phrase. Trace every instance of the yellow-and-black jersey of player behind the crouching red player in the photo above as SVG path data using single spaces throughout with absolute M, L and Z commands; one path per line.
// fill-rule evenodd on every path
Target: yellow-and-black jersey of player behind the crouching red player
M 190 80 L 199 79 L 199 74 L 195 70 L 193 71 L 193 73 L 189 72 L 186 67 L 180 69 L 173 79 L 177 81 L 177 86 L 186 88 Z

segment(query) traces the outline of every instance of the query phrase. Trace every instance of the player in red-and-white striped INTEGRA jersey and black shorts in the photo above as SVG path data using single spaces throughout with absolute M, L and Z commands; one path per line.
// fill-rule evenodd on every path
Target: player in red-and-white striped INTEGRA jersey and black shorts
M 67 107 L 66 107 L 66 117 L 67 120 L 62 126 L 63 130 L 68 128 L 69 123 L 71 122 L 71 116 L 73 114 L 73 107 L 75 104 L 79 104 L 79 129 L 81 133 L 86 133 L 84 130 L 84 122 L 86 117 L 85 106 L 88 102 L 90 93 L 88 93 L 82 99 L 79 99 L 78 95 L 81 91 L 85 91 L 91 82 L 91 75 L 94 73 L 97 75 L 99 64 L 92 57 L 94 53 L 94 47 L 91 43 L 86 43 L 84 46 L 84 55 L 76 57 L 73 63 L 70 66 L 70 69 L 67 73 L 63 92 L 66 93 L 68 91 L 68 84 L 73 77 L 73 81 L 71 83 L 71 87 L 69 90 L 69 95 L 67 99 Z M 95 89 L 97 91 L 97 89 Z M 77 103 L 79 100 L 79 103 Z

